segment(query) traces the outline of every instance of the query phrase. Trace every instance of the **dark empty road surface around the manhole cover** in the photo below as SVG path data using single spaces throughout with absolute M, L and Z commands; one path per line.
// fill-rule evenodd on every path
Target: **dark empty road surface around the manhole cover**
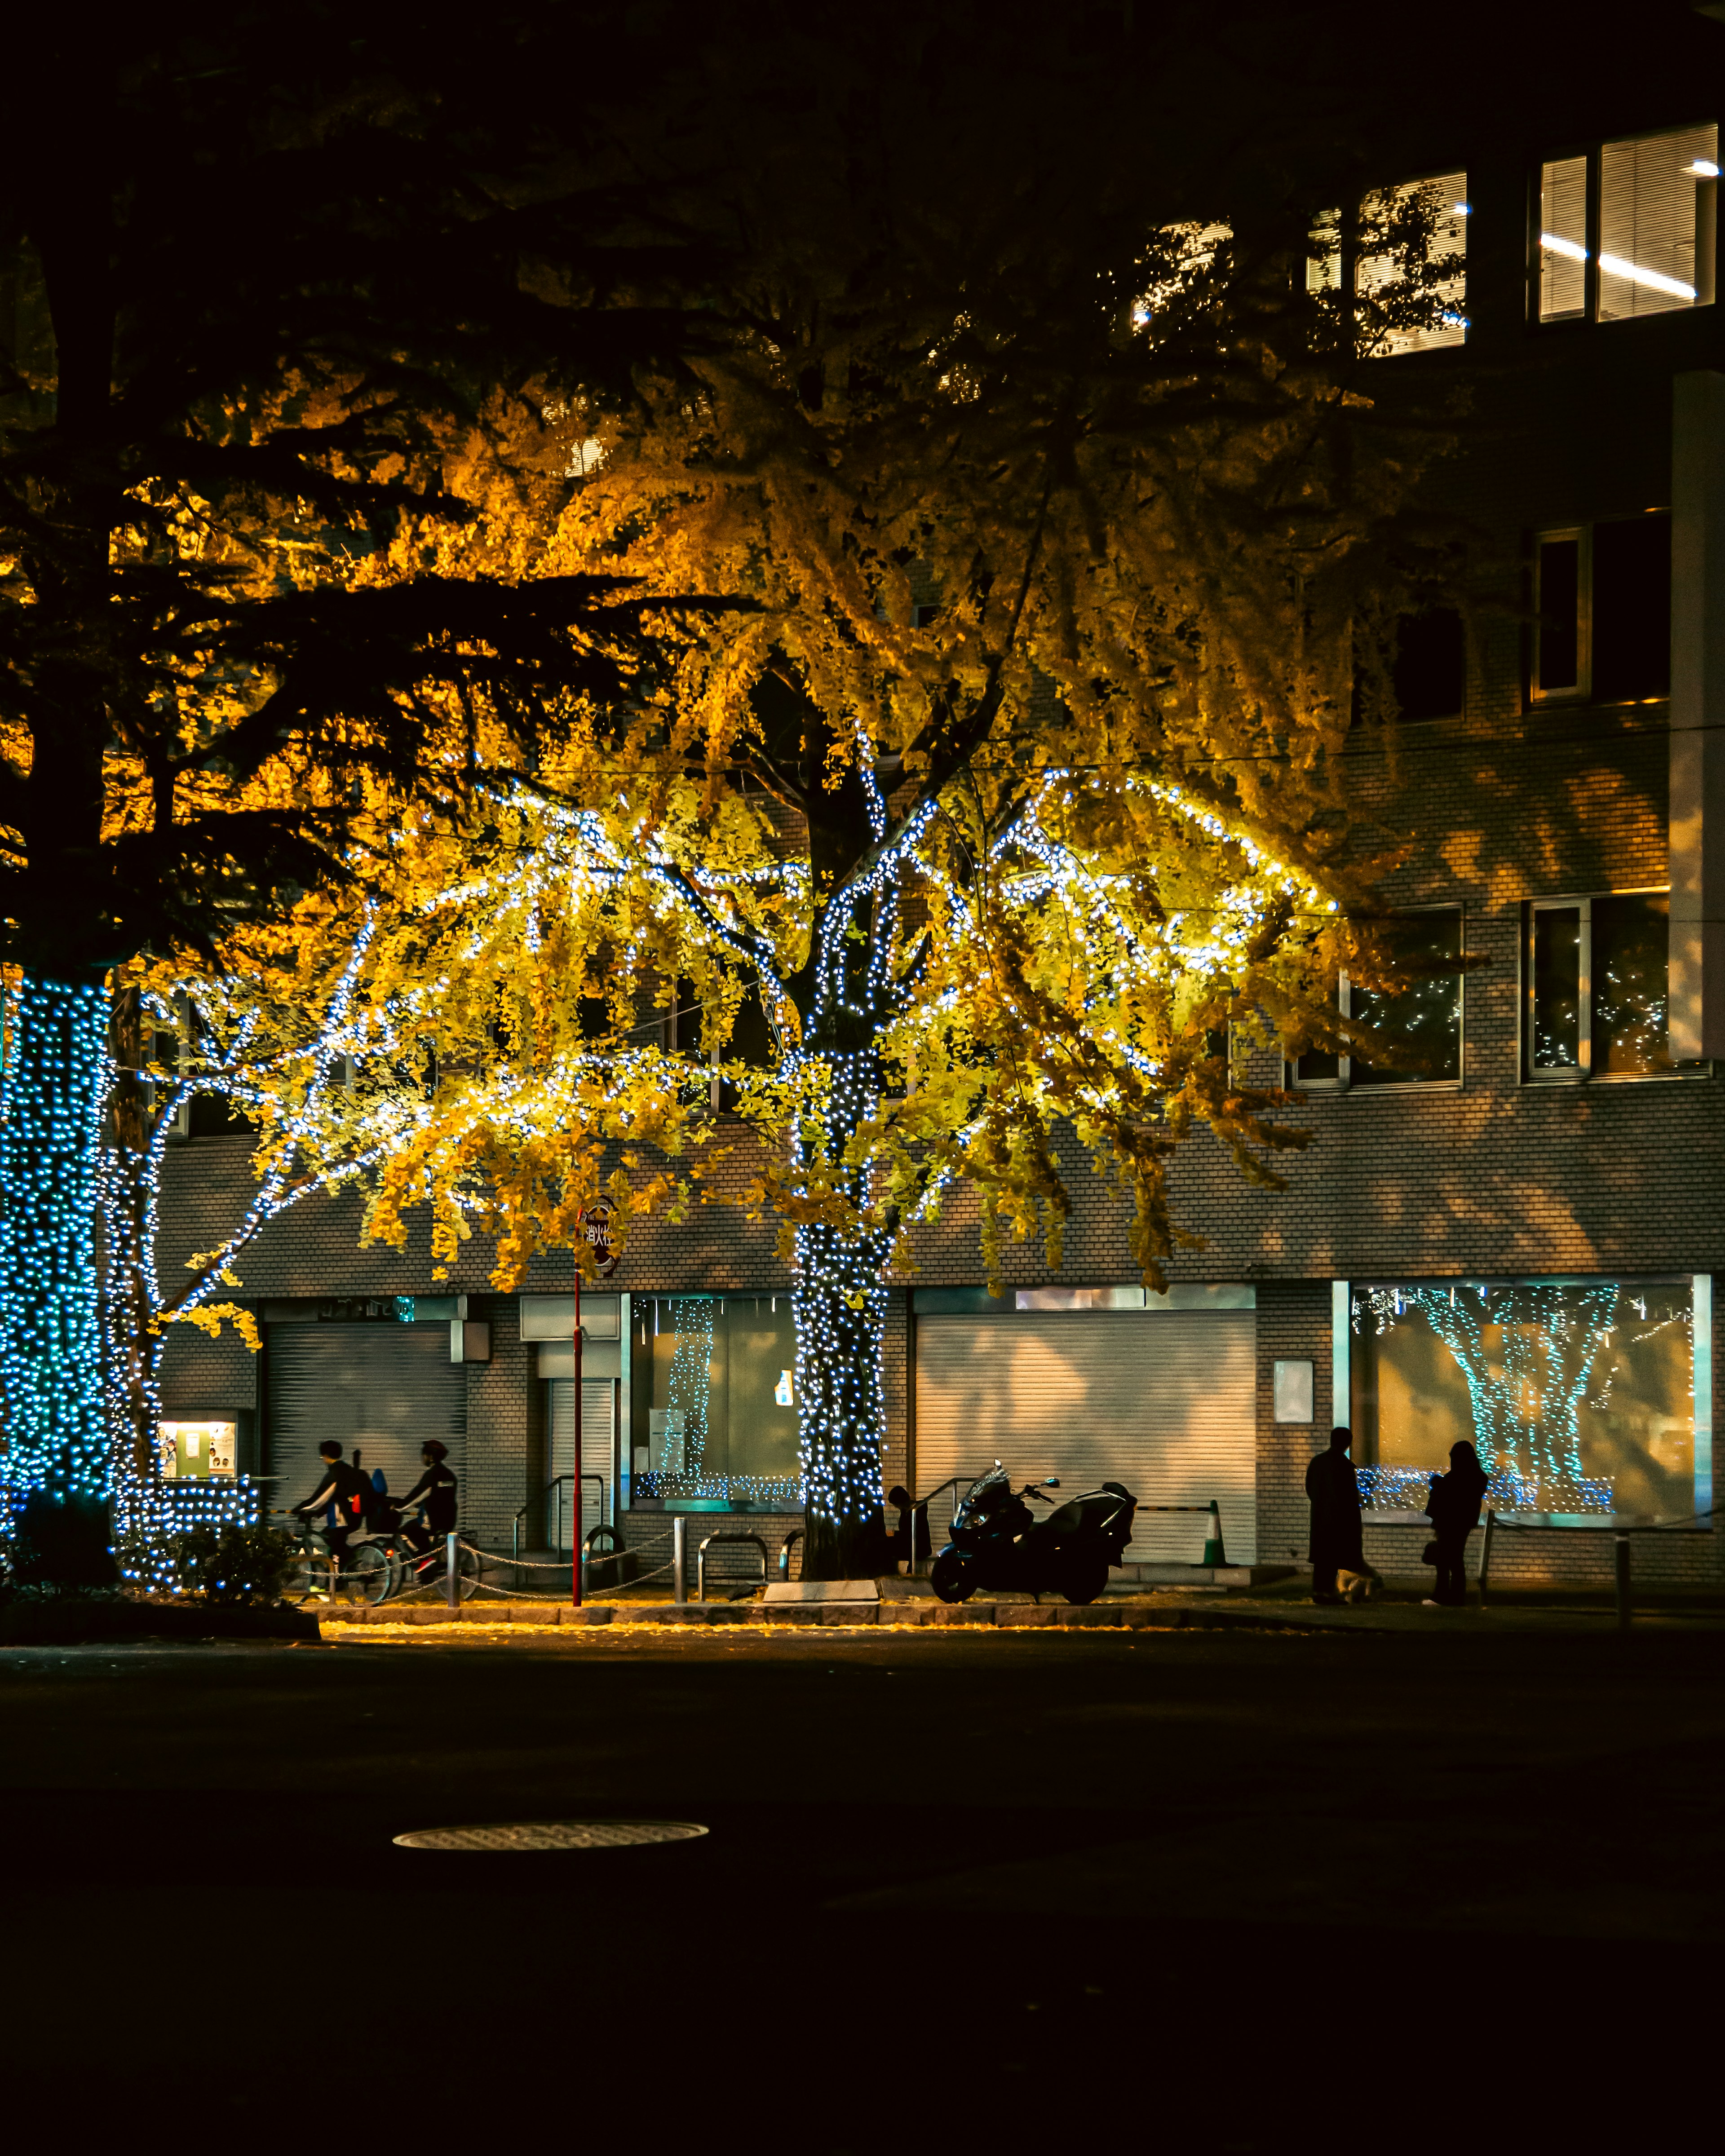
M 26 2115 L 1546 2147 L 1716 2053 L 1699 1634 L 9 1649 L 0 1733 Z M 546 1818 L 712 1833 L 390 1841 Z

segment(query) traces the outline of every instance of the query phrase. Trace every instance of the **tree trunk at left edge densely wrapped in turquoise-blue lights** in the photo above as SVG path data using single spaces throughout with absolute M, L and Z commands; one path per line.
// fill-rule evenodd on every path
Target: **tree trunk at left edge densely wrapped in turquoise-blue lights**
M 97 1188 L 108 996 L 26 972 L 0 1121 L 0 1419 L 6 1498 L 108 1490 Z

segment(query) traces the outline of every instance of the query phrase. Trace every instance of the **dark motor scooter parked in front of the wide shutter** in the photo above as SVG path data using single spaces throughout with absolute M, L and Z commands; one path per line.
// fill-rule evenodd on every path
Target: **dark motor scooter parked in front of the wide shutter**
M 979 1587 L 1018 1587 L 1095 1602 L 1108 1585 L 1108 1565 L 1123 1563 L 1138 1501 L 1123 1483 L 1102 1483 L 1037 1520 L 1024 1498 L 1046 1498 L 1059 1488 L 1059 1475 L 1046 1475 L 1013 1490 L 998 1460 L 979 1475 L 953 1509 L 953 1539 L 929 1572 L 940 1600 L 964 1602 Z

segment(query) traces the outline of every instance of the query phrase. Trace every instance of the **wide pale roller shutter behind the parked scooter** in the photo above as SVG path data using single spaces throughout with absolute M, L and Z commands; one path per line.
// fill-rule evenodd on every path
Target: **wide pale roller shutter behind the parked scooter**
M 1255 1315 L 1020 1311 L 916 1319 L 916 1494 L 1003 1460 L 1061 1494 L 1121 1481 L 1141 1505 L 1223 1509 L 1257 1561 Z M 929 1509 L 940 1546 L 951 1498 Z M 1128 1563 L 1195 1563 L 1203 1520 L 1138 1514 Z

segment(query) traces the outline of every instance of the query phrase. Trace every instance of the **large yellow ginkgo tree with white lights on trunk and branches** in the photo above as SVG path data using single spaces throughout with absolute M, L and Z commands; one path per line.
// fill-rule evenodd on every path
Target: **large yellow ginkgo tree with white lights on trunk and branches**
M 369 1231 L 429 1203 L 444 1257 L 496 1231 L 509 1285 L 591 1197 L 623 1231 L 690 1205 L 748 1138 L 731 1089 L 744 1203 L 794 1268 L 811 1576 L 875 1557 L 884 1283 L 953 1181 L 992 1257 L 1039 1231 L 1059 1263 L 1076 1145 L 1160 1283 L 1201 1233 L 1171 1214 L 1179 1143 L 1208 1128 L 1272 1181 L 1300 1143 L 1242 1082 L 1251 1044 L 1374 1046 L 1333 994 L 1341 966 L 1397 981 L 1343 757 L 1443 573 L 1408 513 L 1432 414 L 1363 371 L 1449 304 L 1440 205 L 1352 233 L 1361 300 L 1309 274 L 1311 201 L 1236 211 L 1220 132 L 1186 170 L 1098 127 L 1078 216 L 1080 99 L 1039 140 L 988 99 L 951 119 L 925 69 L 873 88 L 867 127 L 811 99 L 781 168 L 688 151 L 744 172 L 688 207 L 731 246 L 707 347 L 621 412 L 571 395 L 582 476 L 535 571 L 753 612 L 487 796 L 403 927 L 425 992 L 362 1104 Z M 699 1046 L 643 1039 L 666 1000 Z M 770 1048 L 727 1056 L 744 1011 Z M 293 1145 L 349 1158 L 347 1115 L 330 1095 Z

